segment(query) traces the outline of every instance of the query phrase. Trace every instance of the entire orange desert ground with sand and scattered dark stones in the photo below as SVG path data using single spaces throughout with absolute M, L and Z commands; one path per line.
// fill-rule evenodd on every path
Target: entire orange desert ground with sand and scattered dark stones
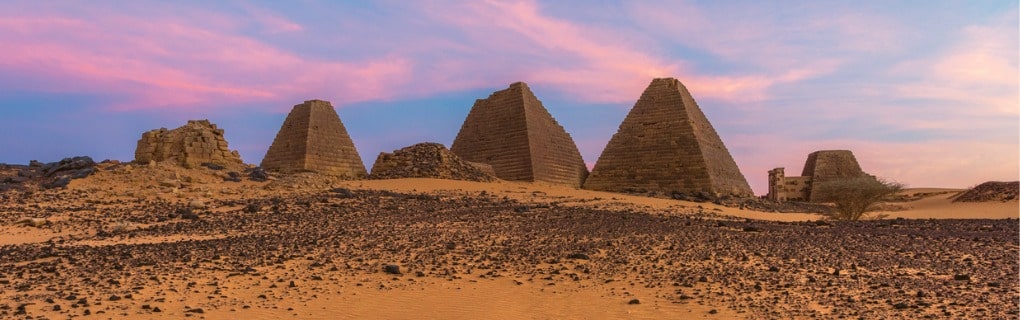
M 835 222 L 531 182 L 224 176 L 105 165 L 0 194 L 0 318 L 1020 314 L 1018 202 L 954 190 Z

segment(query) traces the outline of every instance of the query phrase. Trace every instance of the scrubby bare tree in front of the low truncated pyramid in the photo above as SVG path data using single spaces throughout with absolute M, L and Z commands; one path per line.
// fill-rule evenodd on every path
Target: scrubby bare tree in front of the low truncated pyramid
M 860 176 L 819 183 L 813 193 L 821 202 L 835 205 L 829 217 L 835 220 L 860 220 L 868 212 L 878 209 L 878 204 L 903 190 L 899 182 L 872 176 Z

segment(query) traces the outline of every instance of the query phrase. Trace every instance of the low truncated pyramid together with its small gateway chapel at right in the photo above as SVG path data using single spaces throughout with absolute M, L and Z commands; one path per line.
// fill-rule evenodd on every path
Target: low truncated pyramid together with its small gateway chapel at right
M 777 202 L 817 202 L 814 189 L 821 182 L 870 176 L 850 150 L 821 150 L 808 155 L 801 176 L 786 176 L 784 168 L 768 171 L 767 199 Z

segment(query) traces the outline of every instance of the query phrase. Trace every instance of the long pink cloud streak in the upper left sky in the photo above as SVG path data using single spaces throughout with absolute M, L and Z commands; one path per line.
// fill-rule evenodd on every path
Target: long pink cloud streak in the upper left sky
M 194 24 L 126 15 L 0 16 L 0 42 L 8 45 L 0 68 L 45 78 L 53 91 L 130 95 L 115 110 L 312 97 L 343 104 L 390 97 L 389 85 L 409 77 L 410 63 L 401 57 L 313 60 Z

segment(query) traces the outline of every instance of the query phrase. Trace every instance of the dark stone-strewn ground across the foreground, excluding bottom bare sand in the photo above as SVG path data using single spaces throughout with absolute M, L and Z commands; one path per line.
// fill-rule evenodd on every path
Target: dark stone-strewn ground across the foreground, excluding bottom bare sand
M 498 279 L 746 318 L 1020 316 L 1016 219 L 770 222 L 340 188 L 199 204 L 95 192 L 0 194 L 0 221 L 48 218 L 57 234 L 0 246 L 0 318 L 200 317 L 323 296 L 316 283 L 329 281 Z M 367 276 L 380 280 L 348 280 Z M 238 285 L 262 294 L 232 296 Z M 655 297 L 638 302 L 638 289 Z M 172 304 L 181 295 L 207 299 Z

